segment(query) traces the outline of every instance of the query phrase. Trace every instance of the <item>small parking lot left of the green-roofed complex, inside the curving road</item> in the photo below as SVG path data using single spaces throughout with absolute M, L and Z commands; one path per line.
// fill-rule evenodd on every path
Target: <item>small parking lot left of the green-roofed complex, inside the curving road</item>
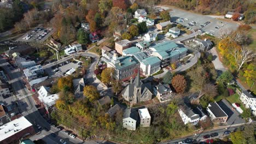
M 59 65 L 55 65 L 54 67 L 45 69 L 45 71 L 49 75 L 49 77 L 60 77 L 65 76 L 67 71 L 69 71 L 70 69 L 77 69 L 79 67 L 82 67 L 82 63 L 78 64 L 76 61 L 66 61 Z

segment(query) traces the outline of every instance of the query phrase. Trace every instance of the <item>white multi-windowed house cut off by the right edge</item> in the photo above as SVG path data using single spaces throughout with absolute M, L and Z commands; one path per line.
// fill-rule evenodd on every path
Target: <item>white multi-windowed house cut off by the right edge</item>
M 243 91 L 240 100 L 245 104 L 246 108 L 251 109 L 254 116 L 256 116 L 256 97 L 253 97 L 251 92 Z

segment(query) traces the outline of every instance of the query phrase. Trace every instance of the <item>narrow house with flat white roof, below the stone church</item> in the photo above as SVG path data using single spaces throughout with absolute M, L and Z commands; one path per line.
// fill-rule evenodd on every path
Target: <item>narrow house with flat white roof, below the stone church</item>
M 140 124 L 141 127 L 149 127 L 151 122 L 151 117 L 149 115 L 148 109 L 147 108 L 139 109 L 138 113 L 141 121 L 141 124 Z

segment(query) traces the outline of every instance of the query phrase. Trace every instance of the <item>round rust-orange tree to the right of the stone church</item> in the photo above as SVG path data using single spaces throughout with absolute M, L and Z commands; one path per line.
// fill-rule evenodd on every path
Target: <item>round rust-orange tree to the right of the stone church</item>
M 183 93 L 187 87 L 187 81 L 183 75 L 176 75 L 172 78 L 172 87 L 177 93 Z

